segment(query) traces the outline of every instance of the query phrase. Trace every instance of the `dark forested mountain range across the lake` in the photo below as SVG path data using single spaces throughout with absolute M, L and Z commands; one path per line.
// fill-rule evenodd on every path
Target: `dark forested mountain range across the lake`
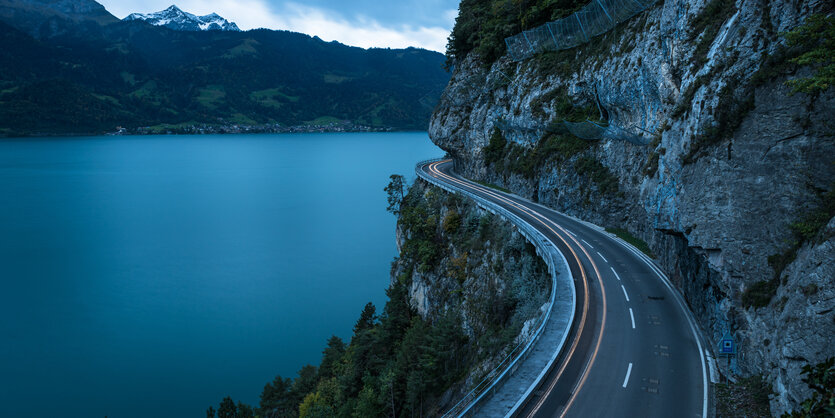
M 287 31 L 120 21 L 92 0 L 0 0 L 0 136 L 323 121 L 423 130 L 449 81 L 443 62 Z

